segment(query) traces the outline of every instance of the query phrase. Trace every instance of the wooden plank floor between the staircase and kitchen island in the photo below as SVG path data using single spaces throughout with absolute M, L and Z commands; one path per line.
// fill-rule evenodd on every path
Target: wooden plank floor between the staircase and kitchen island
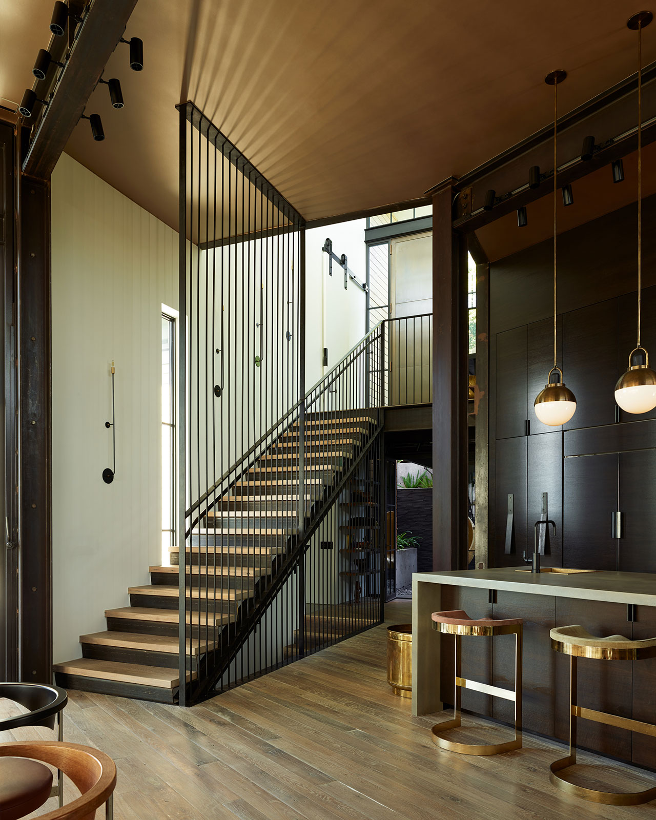
M 410 602 L 386 614 L 408 622 Z M 0 700 L 0 714 L 10 712 Z M 116 820 L 656 820 L 656 802 L 621 809 L 555 790 L 548 767 L 562 746 L 525 736 L 516 752 L 463 757 L 432 744 L 433 722 L 411 717 L 409 700 L 391 694 L 379 626 L 190 709 L 71 691 L 64 738 L 115 759 Z M 487 736 L 508 735 L 490 727 Z M 35 733 L 54 734 L 0 739 Z M 475 733 L 466 734 L 480 740 Z M 588 777 L 601 762 L 580 759 Z M 615 772 L 617 786 L 646 780 L 635 786 L 626 769 Z M 71 799 L 75 787 L 67 789 Z M 53 808 L 50 800 L 41 813 Z

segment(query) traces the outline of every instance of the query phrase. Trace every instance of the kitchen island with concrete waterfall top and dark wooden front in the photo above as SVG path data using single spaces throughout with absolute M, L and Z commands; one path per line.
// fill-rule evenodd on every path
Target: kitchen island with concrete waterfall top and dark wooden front
M 546 568 L 546 567 L 544 567 Z M 470 617 L 522 617 L 523 722 L 541 735 L 567 737 L 567 658 L 553 652 L 553 626 L 581 624 L 593 635 L 656 636 L 656 574 L 638 572 L 519 572 L 526 567 L 412 576 L 412 713 L 453 704 L 453 637 L 440 635 L 430 614 L 464 609 Z M 462 676 L 511 689 L 512 636 L 462 641 Z M 585 660 L 580 703 L 656 723 L 656 658 Z M 512 704 L 462 690 L 465 711 L 511 722 Z M 656 738 L 581 721 L 580 745 L 656 770 Z

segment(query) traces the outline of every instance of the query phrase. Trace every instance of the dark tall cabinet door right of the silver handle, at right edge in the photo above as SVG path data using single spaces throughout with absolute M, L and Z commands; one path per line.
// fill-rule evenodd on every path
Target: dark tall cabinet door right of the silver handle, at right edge
M 622 538 L 617 541 L 617 568 L 656 572 L 656 450 L 620 453 L 619 459 Z

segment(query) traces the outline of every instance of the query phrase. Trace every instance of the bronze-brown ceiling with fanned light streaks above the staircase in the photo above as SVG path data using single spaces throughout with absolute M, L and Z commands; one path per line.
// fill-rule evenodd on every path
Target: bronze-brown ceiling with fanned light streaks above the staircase
M 191 99 L 307 220 L 399 203 L 549 123 L 553 68 L 569 75 L 562 112 L 633 73 L 635 11 L 635 0 L 139 0 L 125 36 L 144 40 L 144 71 L 116 48 L 104 76 L 121 80 L 125 108 L 99 86 L 87 112 L 106 139 L 81 121 L 66 152 L 177 227 L 175 105 Z M 31 85 L 51 13 L 52 0 L 2 2 L 2 104 Z M 644 58 L 656 60 L 656 25 Z

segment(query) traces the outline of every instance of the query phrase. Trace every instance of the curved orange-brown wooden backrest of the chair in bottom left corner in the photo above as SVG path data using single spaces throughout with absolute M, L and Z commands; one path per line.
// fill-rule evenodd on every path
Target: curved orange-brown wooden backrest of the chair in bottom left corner
M 116 765 L 98 749 L 57 740 L 0 743 L 0 757 L 30 758 L 61 769 L 80 790 L 80 797 L 60 809 L 41 815 L 41 820 L 93 820 L 96 809 L 107 803 L 112 813 L 112 793 L 116 786 Z

